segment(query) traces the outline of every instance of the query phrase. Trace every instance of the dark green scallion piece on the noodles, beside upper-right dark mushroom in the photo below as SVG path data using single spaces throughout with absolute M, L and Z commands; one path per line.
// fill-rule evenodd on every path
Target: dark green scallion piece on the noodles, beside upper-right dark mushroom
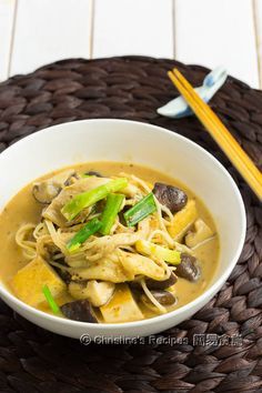
M 139 221 L 145 219 L 149 214 L 157 210 L 153 193 L 150 192 L 147 196 L 141 199 L 134 206 L 129 209 L 124 214 L 124 220 L 128 226 L 135 225 Z

